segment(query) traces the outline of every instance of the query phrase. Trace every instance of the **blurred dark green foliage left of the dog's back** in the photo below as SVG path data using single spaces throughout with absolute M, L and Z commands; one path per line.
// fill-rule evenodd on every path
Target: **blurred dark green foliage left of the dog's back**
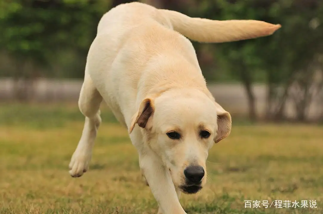
M 53 59 L 69 50 L 83 58 L 78 66 L 84 68 L 97 23 L 109 10 L 110 3 L 108 0 L 3 0 L 0 49 L 16 59 L 17 66 L 10 76 L 17 81 L 48 76 L 43 72 L 50 71 Z M 77 76 L 83 76 L 78 72 Z M 27 98 L 25 91 L 18 90 L 19 98 Z

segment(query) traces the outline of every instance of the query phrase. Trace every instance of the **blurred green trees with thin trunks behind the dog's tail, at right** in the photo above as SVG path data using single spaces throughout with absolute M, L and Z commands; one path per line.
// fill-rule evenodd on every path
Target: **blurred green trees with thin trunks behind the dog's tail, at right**
M 302 76 L 299 73 L 310 75 L 308 69 L 313 67 L 313 62 L 323 52 L 323 2 L 210 0 L 196 4 L 198 6 L 191 14 L 199 14 L 204 18 L 256 19 L 282 25 L 272 36 L 218 44 L 214 51 L 215 56 L 221 59 L 221 67 L 236 74 L 245 85 L 250 118 L 256 117 L 255 96 L 251 86 L 255 77 L 259 80 L 263 76 L 268 86 L 267 118 L 282 119 L 286 99 L 296 77 L 299 79 Z M 303 91 L 308 84 L 303 84 Z M 304 102 L 301 103 L 304 105 Z M 306 108 L 299 109 L 305 111 Z M 301 110 L 298 112 L 304 115 L 304 112 L 300 113 Z M 298 119 L 305 118 L 299 116 Z

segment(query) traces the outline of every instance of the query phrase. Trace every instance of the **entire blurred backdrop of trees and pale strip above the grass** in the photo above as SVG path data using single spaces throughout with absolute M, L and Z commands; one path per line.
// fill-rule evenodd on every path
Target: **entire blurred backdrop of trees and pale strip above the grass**
M 2 0 L 0 101 L 77 102 L 100 17 L 124 0 Z M 193 42 L 208 86 L 251 121 L 323 121 L 323 2 L 146 0 L 216 20 L 256 19 L 274 35 L 224 44 Z

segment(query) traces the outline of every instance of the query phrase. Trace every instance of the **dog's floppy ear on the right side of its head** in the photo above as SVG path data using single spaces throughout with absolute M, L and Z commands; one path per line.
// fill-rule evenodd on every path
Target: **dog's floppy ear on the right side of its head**
M 214 138 L 214 143 L 218 143 L 220 140 L 228 137 L 231 132 L 231 115 L 225 111 L 222 106 L 217 102 L 215 103 L 218 130 L 217 135 Z

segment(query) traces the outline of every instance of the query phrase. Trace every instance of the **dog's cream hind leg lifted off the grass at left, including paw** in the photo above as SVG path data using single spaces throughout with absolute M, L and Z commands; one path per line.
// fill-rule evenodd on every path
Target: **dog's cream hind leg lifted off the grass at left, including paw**
M 69 174 L 72 177 L 80 177 L 89 169 L 97 131 L 101 123 L 100 104 L 102 97 L 93 85 L 90 76 L 85 72 L 84 82 L 78 99 L 78 107 L 85 116 L 82 136 L 69 163 Z

